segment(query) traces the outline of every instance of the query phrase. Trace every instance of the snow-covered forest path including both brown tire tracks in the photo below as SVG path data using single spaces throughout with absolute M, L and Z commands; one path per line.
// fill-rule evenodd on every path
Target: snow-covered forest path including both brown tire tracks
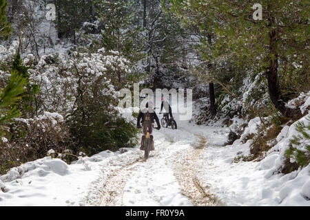
M 208 137 L 187 122 L 178 124 L 177 130 L 154 132 L 156 151 L 147 162 L 143 162 L 143 151 L 137 151 L 107 177 L 101 206 L 216 205 L 196 179 L 196 159 L 207 146 Z

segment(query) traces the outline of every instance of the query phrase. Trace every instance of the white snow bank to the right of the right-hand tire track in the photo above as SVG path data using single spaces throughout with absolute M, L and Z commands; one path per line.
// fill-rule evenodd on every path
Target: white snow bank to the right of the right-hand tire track
M 245 133 L 255 133 L 257 122 L 258 118 L 251 120 Z M 296 123 L 282 129 L 278 144 L 260 162 L 241 159 L 234 163 L 237 156 L 249 155 L 251 140 L 205 148 L 197 163 L 199 181 L 228 206 L 310 206 L 310 165 L 287 175 L 278 172 L 286 159 L 285 150 L 297 134 Z M 209 134 L 210 139 L 212 136 Z

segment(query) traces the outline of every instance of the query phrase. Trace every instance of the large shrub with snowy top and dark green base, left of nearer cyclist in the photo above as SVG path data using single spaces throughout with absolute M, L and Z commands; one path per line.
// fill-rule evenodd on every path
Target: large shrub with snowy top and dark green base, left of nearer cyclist
M 72 149 L 87 154 L 134 146 L 132 121 L 120 113 L 118 89 L 130 74 L 129 61 L 102 48 L 93 54 L 73 52 L 43 56 L 32 78 L 41 85 L 41 107 L 58 111 L 72 135 Z

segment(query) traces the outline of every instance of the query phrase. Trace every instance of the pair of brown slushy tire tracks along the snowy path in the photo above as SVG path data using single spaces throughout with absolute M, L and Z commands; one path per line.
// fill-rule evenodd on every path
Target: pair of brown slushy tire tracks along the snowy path
M 187 131 L 184 131 L 187 133 Z M 184 135 L 187 135 L 187 134 Z M 194 206 L 216 206 L 216 201 L 212 199 L 212 196 L 209 195 L 207 190 L 200 186 L 196 179 L 196 170 L 195 163 L 196 159 L 200 155 L 201 151 L 205 146 L 207 146 L 207 140 L 201 135 L 195 135 L 196 140 L 192 143 L 192 146 L 187 148 L 187 151 L 179 151 L 178 159 L 170 159 L 168 151 L 169 148 L 177 148 L 178 142 L 174 138 L 165 134 L 165 140 L 161 144 L 156 144 L 155 147 L 157 152 L 152 153 L 149 159 L 158 159 L 163 162 L 163 159 L 166 161 L 173 161 L 171 164 L 174 176 L 178 181 L 178 185 L 182 190 L 182 194 L 187 197 Z M 157 145 L 157 146 L 156 146 Z M 165 147 L 160 147 L 158 145 L 163 145 Z M 175 156 L 174 154 L 170 156 Z M 165 158 L 163 158 L 165 157 Z M 132 177 L 132 171 L 141 170 L 145 166 L 150 165 L 147 162 L 143 162 L 143 151 L 140 153 L 139 159 L 134 159 L 131 163 L 125 164 L 121 168 L 114 170 L 114 172 L 107 177 L 101 192 L 101 203 L 100 206 L 123 206 L 123 201 L 118 202 L 120 198 L 123 197 L 124 187 L 127 181 Z M 167 164 L 167 162 L 165 162 Z M 160 168 L 154 168 L 152 172 L 156 175 L 156 170 L 159 171 Z M 152 178 L 152 177 L 150 177 Z M 136 181 L 138 182 L 138 181 Z M 152 193 L 152 192 L 149 192 Z M 143 196 L 143 195 L 141 195 Z M 123 199 L 122 199 L 123 200 Z M 145 204 L 147 206 L 147 204 Z

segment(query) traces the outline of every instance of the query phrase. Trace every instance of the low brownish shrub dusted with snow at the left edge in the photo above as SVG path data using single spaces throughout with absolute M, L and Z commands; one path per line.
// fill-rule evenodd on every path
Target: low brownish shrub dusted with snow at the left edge
M 34 118 L 16 118 L 10 131 L 2 139 L 0 173 L 8 168 L 45 157 L 50 149 L 63 152 L 69 142 L 68 128 L 63 116 L 44 112 Z

